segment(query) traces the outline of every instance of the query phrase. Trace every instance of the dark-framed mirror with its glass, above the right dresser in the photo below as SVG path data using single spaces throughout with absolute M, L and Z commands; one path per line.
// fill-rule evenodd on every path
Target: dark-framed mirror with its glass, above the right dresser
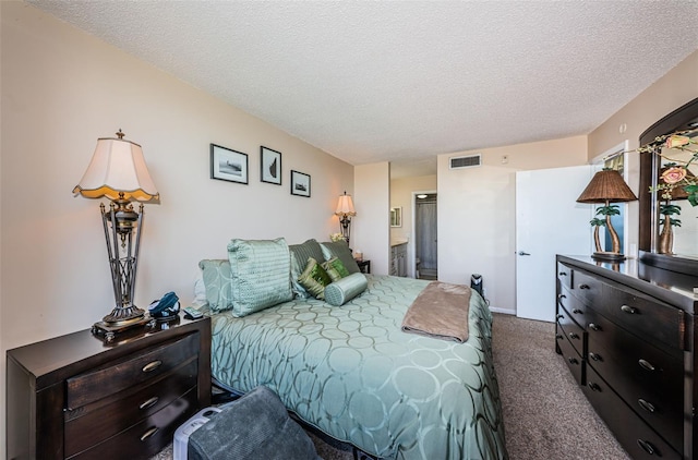
M 640 259 L 698 276 L 698 206 L 691 206 L 682 186 L 661 190 L 665 184 L 661 174 L 672 166 L 685 165 L 693 156 L 687 150 L 666 148 L 665 141 L 673 134 L 698 142 L 698 98 L 662 118 L 640 135 L 643 152 L 640 154 Z M 687 147 L 698 149 L 697 144 Z M 693 180 L 698 177 L 698 162 L 688 166 L 688 180 L 691 174 Z M 648 192 L 650 189 L 652 192 Z M 663 232 L 671 234 L 662 235 Z

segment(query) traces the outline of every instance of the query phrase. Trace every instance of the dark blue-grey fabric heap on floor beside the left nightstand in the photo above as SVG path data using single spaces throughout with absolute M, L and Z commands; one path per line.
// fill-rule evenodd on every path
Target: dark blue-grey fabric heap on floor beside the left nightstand
M 308 434 L 266 387 L 226 404 L 192 433 L 188 455 L 190 460 L 322 460 Z

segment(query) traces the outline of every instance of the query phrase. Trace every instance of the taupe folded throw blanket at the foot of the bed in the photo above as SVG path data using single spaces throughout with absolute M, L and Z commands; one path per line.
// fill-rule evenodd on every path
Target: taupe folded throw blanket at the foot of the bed
M 402 330 L 465 342 L 468 340 L 470 294 L 467 286 L 430 282 L 405 314 Z

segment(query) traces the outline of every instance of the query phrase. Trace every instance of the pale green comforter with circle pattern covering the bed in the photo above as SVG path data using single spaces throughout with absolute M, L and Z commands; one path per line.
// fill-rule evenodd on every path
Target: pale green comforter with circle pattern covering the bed
M 505 459 L 492 364 L 492 316 L 471 296 L 466 343 L 406 334 L 405 312 L 429 281 L 366 276 L 342 306 L 293 300 L 213 316 L 214 376 L 276 391 L 306 423 L 390 459 Z

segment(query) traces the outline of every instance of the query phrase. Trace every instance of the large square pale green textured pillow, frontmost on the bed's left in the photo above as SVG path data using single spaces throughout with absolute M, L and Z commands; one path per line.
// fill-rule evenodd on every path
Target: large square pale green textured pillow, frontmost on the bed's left
M 245 316 L 293 298 L 286 240 L 230 240 L 232 314 Z

